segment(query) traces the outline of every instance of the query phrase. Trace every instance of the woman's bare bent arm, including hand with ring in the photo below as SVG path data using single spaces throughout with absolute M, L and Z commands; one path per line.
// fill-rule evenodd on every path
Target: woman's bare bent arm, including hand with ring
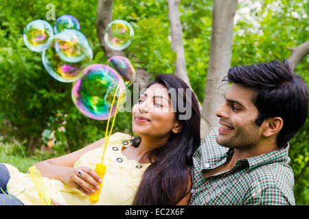
M 85 166 L 73 168 L 73 166 L 84 153 L 97 149 L 103 144 L 104 138 L 93 142 L 78 151 L 63 155 L 61 157 L 55 157 L 38 162 L 37 164 L 34 164 L 34 166 L 36 166 L 36 168 L 41 172 L 43 177 L 57 179 L 67 185 L 71 185 L 73 188 L 76 188 L 87 195 L 91 195 L 91 193 L 95 193 L 93 188 L 97 190 L 100 189 L 100 186 L 97 183 L 101 183 L 99 175 L 91 168 L 87 168 Z M 78 177 L 77 173 L 80 170 L 82 170 L 83 173 L 81 177 Z

